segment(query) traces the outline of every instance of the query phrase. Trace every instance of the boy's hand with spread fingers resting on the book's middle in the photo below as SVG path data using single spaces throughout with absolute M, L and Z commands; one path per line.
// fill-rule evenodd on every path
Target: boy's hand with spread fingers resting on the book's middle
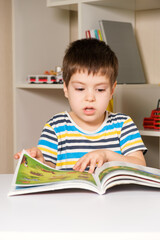
M 96 165 L 101 167 L 105 162 L 107 162 L 106 150 L 95 150 L 81 157 L 74 165 L 73 169 L 83 172 L 87 166 L 90 166 L 88 172 L 93 173 Z

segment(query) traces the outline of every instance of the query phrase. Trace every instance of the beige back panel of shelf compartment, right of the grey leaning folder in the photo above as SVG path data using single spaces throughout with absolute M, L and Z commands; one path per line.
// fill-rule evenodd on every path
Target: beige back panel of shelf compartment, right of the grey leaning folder
M 136 12 L 136 36 L 147 83 L 160 84 L 160 9 Z

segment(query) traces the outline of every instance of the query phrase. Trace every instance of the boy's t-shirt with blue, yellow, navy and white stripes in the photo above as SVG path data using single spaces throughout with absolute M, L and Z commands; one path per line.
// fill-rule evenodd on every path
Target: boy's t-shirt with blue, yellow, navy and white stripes
M 45 124 L 38 148 L 56 169 L 72 169 L 79 158 L 96 149 L 109 149 L 122 155 L 146 150 L 132 119 L 121 113 L 108 112 L 95 132 L 81 129 L 68 112 L 56 114 Z

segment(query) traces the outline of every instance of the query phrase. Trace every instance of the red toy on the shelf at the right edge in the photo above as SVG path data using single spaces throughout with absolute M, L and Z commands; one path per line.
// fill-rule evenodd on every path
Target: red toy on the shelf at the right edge
M 143 127 L 160 130 L 160 99 L 158 100 L 157 108 L 152 110 L 151 116 L 144 118 Z

